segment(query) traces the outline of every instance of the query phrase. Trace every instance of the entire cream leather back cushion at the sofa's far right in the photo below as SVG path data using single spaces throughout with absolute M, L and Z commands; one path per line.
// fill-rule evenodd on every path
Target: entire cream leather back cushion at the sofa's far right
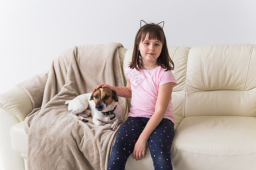
M 205 45 L 189 50 L 188 116 L 256 116 L 256 48 Z

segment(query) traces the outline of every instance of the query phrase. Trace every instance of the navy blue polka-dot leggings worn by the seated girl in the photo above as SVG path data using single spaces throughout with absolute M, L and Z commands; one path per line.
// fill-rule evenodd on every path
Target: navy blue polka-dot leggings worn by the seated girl
M 145 117 L 127 118 L 118 131 L 107 170 L 125 169 L 126 161 L 133 153 L 135 143 L 148 120 L 149 118 Z M 155 169 L 172 169 L 170 150 L 173 138 L 174 124 L 171 120 L 163 118 L 148 139 L 148 147 Z

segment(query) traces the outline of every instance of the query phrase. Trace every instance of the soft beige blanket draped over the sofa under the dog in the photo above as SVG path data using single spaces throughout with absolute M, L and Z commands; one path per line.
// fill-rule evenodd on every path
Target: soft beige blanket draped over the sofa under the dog
M 25 120 L 28 169 L 106 169 L 117 131 L 68 116 L 66 100 L 92 92 L 98 84 L 125 86 L 121 44 L 75 46 L 55 58 L 47 74 L 17 86 L 31 97 L 34 110 Z M 126 99 L 119 97 L 123 117 Z M 119 125 L 120 127 L 121 125 Z

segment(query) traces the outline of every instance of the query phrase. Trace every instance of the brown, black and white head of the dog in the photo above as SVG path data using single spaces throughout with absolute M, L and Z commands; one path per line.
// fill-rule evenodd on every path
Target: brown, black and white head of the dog
M 104 111 L 109 105 L 118 102 L 117 92 L 109 88 L 100 88 L 92 93 L 90 100 L 94 101 L 97 111 Z

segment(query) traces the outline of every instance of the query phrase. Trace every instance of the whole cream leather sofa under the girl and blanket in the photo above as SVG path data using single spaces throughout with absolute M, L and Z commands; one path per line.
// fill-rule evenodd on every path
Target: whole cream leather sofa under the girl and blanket
M 174 169 L 256 169 L 256 46 L 170 46 L 177 86 L 172 94 Z M 123 67 L 132 49 L 119 48 Z M 32 111 L 19 87 L 0 95 L 0 158 L 5 170 L 26 169 L 23 121 Z M 150 152 L 126 169 L 153 169 Z

